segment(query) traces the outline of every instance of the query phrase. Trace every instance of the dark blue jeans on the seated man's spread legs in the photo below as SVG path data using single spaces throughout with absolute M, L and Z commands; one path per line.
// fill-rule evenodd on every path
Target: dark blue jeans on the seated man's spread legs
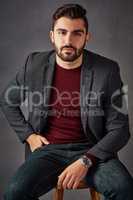
M 88 143 L 49 144 L 36 149 L 10 180 L 5 200 L 37 200 L 57 183 L 58 175 L 88 149 Z M 133 179 L 116 158 L 98 162 L 85 177 L 106 199 L 133 200 Z

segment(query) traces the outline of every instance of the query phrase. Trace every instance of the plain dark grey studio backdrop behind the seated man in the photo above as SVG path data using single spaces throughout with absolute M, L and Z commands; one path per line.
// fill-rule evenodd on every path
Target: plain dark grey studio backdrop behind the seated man
M 0 91 L 23 65 L 31 51 L 51 49 L 49 30 L 54 10 L 63 3 L 80 3 L 88 10 L 92 40 L 87 48 L 119 62 L 129 86 L 129 115 L 133 121 L 133 1 L 132 0 L 0 0 Z M 0 194 L 24 160 L 24 146 L 0 113 Z M 132 138 L 120 159 L 133 174 Z M 71 193 L 71 195 L 70 195 Z M 80 194 L 80 195 L 79 195 Z M 42 199 L 51 199 L 49 192 Z M 88 198 L 88 192 L 67 192 L 66 198 Z

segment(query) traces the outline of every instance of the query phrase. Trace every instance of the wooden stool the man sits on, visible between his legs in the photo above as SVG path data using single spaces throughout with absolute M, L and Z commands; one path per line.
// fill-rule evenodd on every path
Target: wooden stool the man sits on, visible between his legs
M 87 189 L 87 188 L 88 186 L 86 185 L 85 181 L 80 181 L 76 189 Z M 93 188 L 89 188 L 89 192 L 91 195 L 91 200 L 100 200 L 100 193 L 96 192 Z M 56 186 L 53 193 L 53 200 L 63 200 L 63 196 L 64 196 L 64 189 L 58 189 Z

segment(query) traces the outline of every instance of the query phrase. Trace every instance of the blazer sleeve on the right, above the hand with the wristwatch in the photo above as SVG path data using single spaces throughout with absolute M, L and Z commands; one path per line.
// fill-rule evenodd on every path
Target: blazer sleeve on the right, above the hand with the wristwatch
M 107 78 L 104 101 L 105 136 L 87 151 L 102 160 L 117 155 L 130 138 L 126 96 L 117 63 L 114 63 Z

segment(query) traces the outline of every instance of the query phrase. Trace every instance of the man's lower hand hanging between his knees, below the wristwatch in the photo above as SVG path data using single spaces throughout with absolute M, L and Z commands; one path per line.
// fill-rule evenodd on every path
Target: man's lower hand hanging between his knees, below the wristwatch
M 79 182 L 86 176 L 88 169 L 89 167 L 84 166 L 79 160 L 75 161 L 58 176 L 58 188 L 77 188 Z

